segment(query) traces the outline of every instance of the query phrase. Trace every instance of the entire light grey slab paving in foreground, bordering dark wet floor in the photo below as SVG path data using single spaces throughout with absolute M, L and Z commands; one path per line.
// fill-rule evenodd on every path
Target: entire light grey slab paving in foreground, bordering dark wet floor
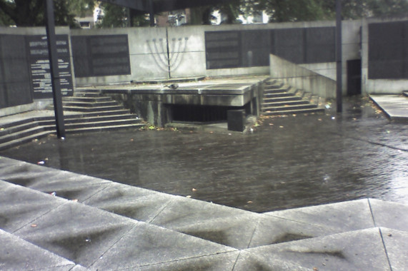
M 408 206 L 252 213 L 0 158 L 0 270 L 407 270 Z

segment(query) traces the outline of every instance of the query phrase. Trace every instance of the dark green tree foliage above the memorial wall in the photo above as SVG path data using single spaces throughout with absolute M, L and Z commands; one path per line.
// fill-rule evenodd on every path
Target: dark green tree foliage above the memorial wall
M 332 20 L 336 0 L 231 0 L 227 4 L 192 9 L 191 24 L 212 24 L 212 12 L 221 11 L 223 24 L 240 24 L 239 15 L 265 11 L 270 22 Z M 44 0 L 0 0 L 0 25 L 44 26 Z M 104 9 L 99 27 L 146 26 L 145 14 L 96 0 L 54 0 L 56 25 L 78 27 L 75 16 Z M 408 0 L 342 0 L 343 19 L 397 16 L 408 13 Z

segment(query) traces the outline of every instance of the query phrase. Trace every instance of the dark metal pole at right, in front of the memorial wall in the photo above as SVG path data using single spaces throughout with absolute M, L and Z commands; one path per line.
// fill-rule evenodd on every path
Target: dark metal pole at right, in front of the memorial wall
M 337 113 L 343 111 L 342 102 L 342 1 L 336 0 L 336 104 Z

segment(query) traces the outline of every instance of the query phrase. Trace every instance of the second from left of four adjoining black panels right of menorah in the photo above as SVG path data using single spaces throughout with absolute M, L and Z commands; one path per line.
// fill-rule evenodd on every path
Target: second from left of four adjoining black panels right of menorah
M 242 31 L 242 65 L 269 66 L 271 39 L 268 30 Z

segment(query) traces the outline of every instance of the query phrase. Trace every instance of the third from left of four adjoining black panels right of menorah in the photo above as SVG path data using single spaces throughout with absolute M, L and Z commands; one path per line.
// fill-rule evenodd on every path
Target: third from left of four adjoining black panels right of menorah
M 275 29 L 275 54 L 293 63 L 304 63 L 304 29 Z

